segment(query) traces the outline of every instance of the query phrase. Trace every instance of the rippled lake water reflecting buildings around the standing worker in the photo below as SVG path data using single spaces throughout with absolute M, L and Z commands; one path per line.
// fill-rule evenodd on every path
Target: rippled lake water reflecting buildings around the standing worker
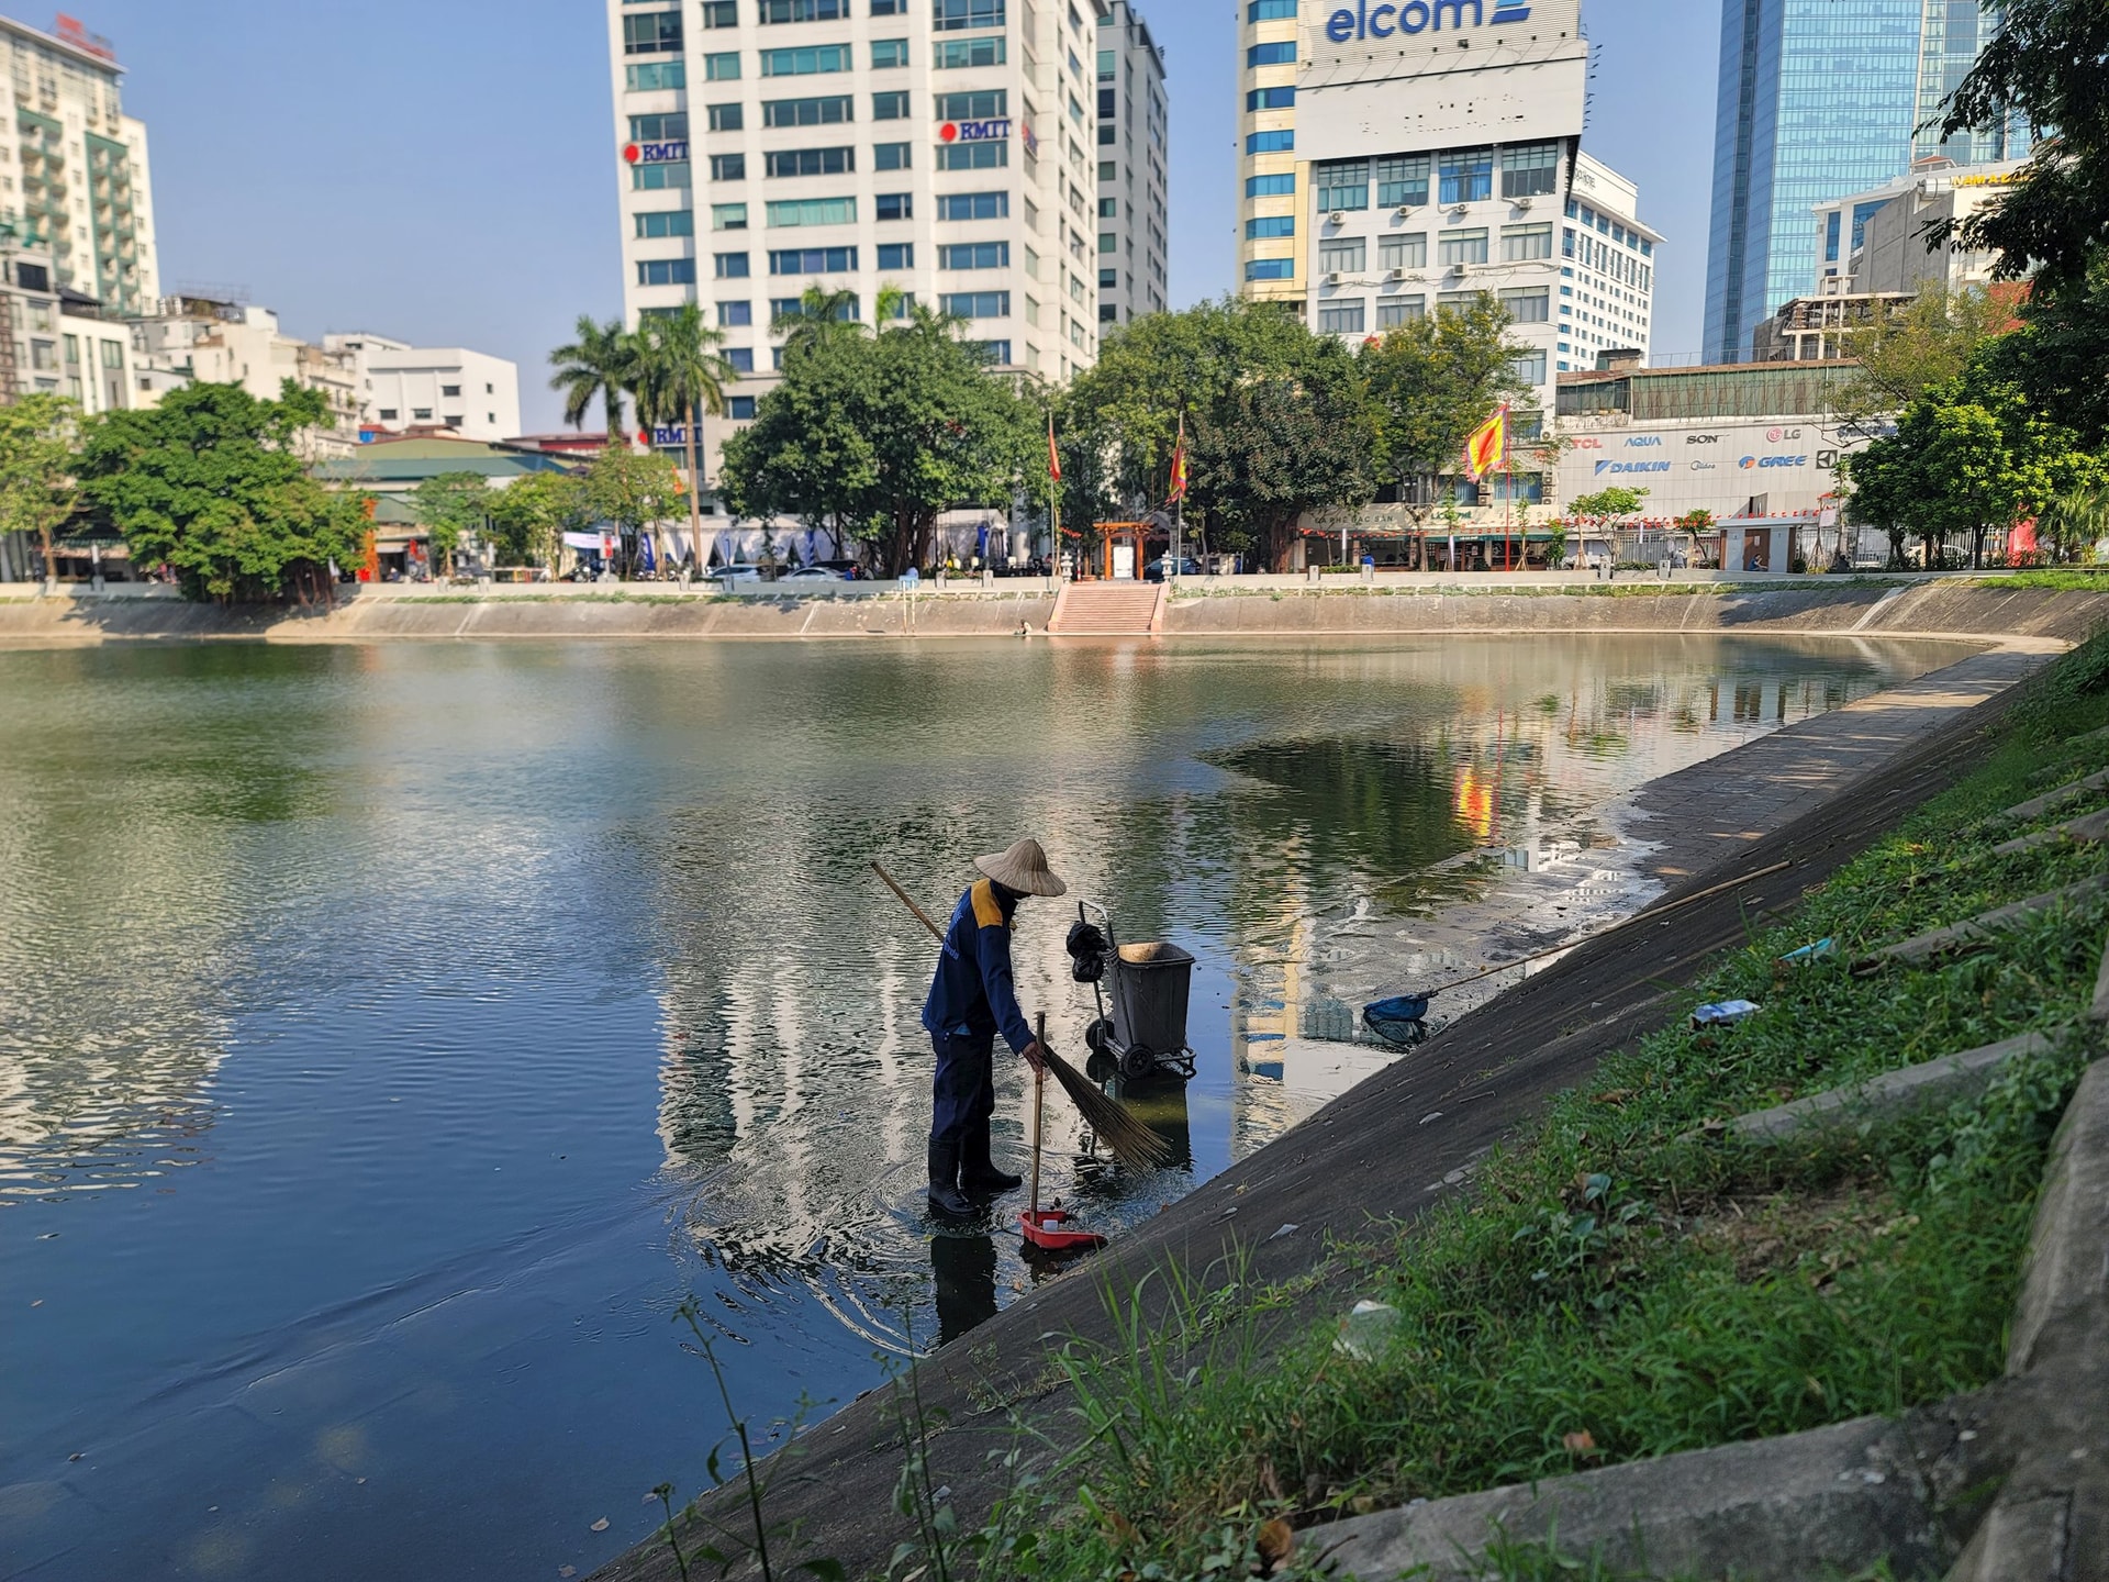
M 1048 1105 L 1050 1190 L 1118 1230 L 1381 1059 L 1280 1059 L 1352 1000 L 1318 920 L 1615 865 L 1620 793 L 1949 654 L 0 654 L 0 1576 L 584 1574 L 719 1436 L 685 1297 L 763 1422 L 1012 1301 L 1014 1236 L 922 1215 L 932 945 L 871 858 L 941 915 L 1038 833 L 1200 958 L 1177 1169 Z M 1082 1059 L 1071 918 L 1017 956 Z

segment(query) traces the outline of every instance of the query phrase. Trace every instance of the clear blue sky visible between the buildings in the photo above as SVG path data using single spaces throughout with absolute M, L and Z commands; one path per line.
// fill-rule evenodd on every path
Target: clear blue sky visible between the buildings
M 1173 302 L 1227 291 L 1238 6 L 1139 0 L 1173 101 Z M 148 122 L 165 289 L 247 287 L 295 335 L 375 329 L 521 365 L 622 304 L 616 137 L 599 0 L 80 0 Z M 44 13 L 8 15 L 49 27 Z M 1641 184 L 1670 240 L 1656 350 L 1700 344 L 1719 6 L 1586 0 L 1586 146 Z

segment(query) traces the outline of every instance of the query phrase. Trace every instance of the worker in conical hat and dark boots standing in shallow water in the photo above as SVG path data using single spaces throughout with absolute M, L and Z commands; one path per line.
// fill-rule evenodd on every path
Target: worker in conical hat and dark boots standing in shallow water
M 981 877 L 951 909 L 924 1002 L 924 1027 L 936 1050 L 930 1078 L 930 1211 L 945 1217 L 974 1213 L 970 1192 L 1008 1192 L 1023 1181 L 989 1158 L 995 1034 L 1036 1072 L 1044 1069 L 1010 979 L 1010 915 L 1029 894 L 1054 896 L 1069 888 L 1054 877 L 1036 840 L 976 856 L 974 867 Z

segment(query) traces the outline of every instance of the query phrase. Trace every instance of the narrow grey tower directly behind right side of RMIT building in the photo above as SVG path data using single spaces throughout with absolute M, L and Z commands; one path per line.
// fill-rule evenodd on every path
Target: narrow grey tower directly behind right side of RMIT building
M 1164 312 L 1170 217 L 1164 53 L 1128 0 L 1099 15 L 1099 323 Z

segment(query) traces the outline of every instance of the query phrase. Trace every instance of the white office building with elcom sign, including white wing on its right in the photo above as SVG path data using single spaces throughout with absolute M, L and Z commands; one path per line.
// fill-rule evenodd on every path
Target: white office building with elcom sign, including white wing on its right
M 1301 255 L 1314 329 L 1360 340 L 1493 293 L 1548 418 L 1563 367 L 1647 344 L 1660 236 L 1582 154 L 1580 0 L 1356 0 L 1299 27 L 1295 175 L 1257 179 L 1301 196 L 1246 226 Z

